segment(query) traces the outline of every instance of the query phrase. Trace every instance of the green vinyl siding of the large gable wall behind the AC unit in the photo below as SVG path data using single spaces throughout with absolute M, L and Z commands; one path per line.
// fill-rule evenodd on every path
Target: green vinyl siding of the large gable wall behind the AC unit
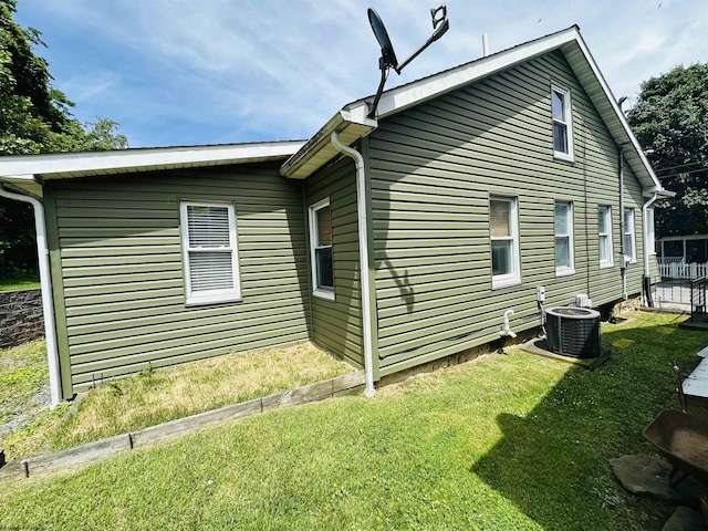
M 553 158 L 551 85 L 571 91 L 574 162 Z M 368 138 L 382 375 L 539 324 L 545 305 L 622 296 L 618 149 L 562 53 L 523 63 L 379 123 Z M 490 196 L 518 199 L 521 283 L 492 290 Z M 573 204 L 575 273 L 556 277 L 554 202 Z M 597 207 L 612 207 L 614 267 L 600 269 Z M 625 165 L 625 206 L 642 190 Z M 642 263 L 627 271 L 641 290 Z

